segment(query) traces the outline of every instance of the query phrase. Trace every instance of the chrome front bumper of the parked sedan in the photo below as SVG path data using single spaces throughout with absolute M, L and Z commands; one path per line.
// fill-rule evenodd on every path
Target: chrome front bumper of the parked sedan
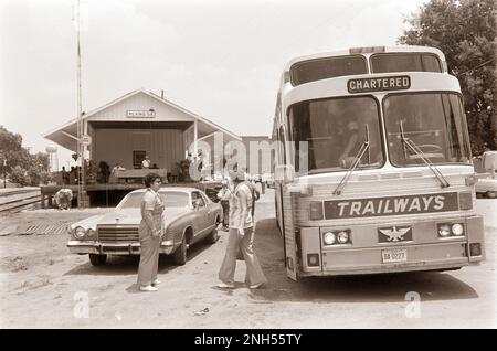
M 140 243 L 99 243 L 94 241 L 70 241 L 67 247 L 72 254 L 99 255 L 139 255 Z M 173 252 L 172 241 L 160 243 L 159 253 L 169 255 Z

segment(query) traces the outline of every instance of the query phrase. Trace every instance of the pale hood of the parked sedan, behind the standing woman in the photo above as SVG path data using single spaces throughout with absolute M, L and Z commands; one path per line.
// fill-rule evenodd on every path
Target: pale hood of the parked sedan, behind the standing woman
M 192 211 L 188 208 L 167 208 L 163 213 L 165 224 L 168 225 L 176 219 L 184 215 L 186 213 Z M 112 212 L 94 215 L 74 223 L 72 226 L 82 226 L 84 228 L 96 228 L 96 225 L 138 225 L 141 221 L 140 209 L 123 209 L 114 210 Z

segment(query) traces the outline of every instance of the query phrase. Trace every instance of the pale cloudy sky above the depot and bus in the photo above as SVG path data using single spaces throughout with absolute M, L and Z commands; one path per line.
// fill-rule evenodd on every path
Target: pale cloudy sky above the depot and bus
M 394 45 L 426 0 L 81 0 L 83 110 L 138 88 L 269 135 L 295 56 Z M 0 125 L 31 152 L 77 115 L 76 0 L 0 0 Z M 71 152 L 59 147 L 60 167 Z

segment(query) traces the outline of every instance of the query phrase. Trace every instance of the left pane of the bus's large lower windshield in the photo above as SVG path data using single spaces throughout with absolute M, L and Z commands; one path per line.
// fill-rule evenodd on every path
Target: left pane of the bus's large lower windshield
M 351 166 L 361 145 L 369 140 L 369 150 L 358 169 L 379 168 L 383 163 L 378 103 L 373 97 L 342 97 L 297 103 L 289 108 L 290 138 L 296 150 L 299 142 L 308 145 L 309 174 L 343 171 Z M 295 169 L 302 170 L 299 152 Z

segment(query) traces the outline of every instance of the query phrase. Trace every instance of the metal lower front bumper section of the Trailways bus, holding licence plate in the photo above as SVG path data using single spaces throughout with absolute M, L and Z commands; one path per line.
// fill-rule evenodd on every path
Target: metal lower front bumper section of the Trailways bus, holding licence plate
M 442 222 L 446 221 L 448 220 Z M 436 235 L 436 224 L 441 221 L 426 221 L 410 224 L 413 230 L 410 242 L 379 243 L 376 240 L 379 225 L 351 226 L 352 243 L 353 233 L 356 242 L 369 238 L 369 242 L 358 246 L 327 246 L 319 228 L 300 228 L 300 240 L 305 236 L 307 240 L 300 243 L 299 276 L 448 270 L 485 260 L 483 219 L 470 216 L 453 221 L 465 222 L 464 236 L 440 238 Z M 310 259 L 311 255 L 314 259 Z M 316 255 L 319 258 L 317 262 Z

